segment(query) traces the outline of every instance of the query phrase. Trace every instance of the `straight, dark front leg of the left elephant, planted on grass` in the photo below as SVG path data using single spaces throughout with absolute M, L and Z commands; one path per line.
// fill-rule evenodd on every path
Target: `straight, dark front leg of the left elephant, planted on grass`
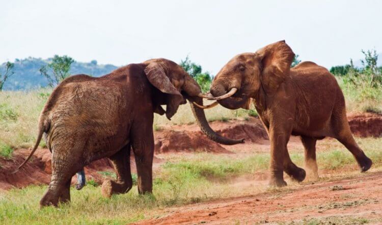
M 134 121 L 131 130 L 131 146 L 138 173 L 139 194 L 152 192 L 152 162 L 154 157 L 153 114 Z

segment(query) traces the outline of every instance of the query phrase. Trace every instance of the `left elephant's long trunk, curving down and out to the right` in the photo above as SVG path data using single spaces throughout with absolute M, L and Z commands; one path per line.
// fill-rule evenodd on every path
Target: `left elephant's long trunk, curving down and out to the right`
M 239 144 L 239 143 L 244 143 L 244 139 L 229 139 L 225 138 L 216 132 L 212 130 L 212 128 L 209 126 L 206 115 L 204 114 L 203 109 L 200 109 L 196 107 L 192 102 L 195 102 L 199 105 L 203 105 L 203 99 L 200 97 L 189 97 L 188 100 L 190 101 L 190 107 L 191 110 L 194 113 L 195 119 L 200 126 L 200 129 L 202 132 L 211 140 L 224 144 L 224 145 L 234 145 L 234 144 Z

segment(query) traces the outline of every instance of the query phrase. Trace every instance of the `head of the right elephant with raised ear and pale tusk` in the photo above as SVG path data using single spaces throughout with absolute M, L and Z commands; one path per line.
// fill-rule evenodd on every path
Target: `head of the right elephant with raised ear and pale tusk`
M 256 99 L 262 88 L 271 96 L 289 76 L 294 53 L 285 43 L 279 41 L 267 45 L 255 53 L 242 53 L 233 57 L 216 75 L 210 92 L 222 106 L 229 109 L 245 108 L 250 98 Z

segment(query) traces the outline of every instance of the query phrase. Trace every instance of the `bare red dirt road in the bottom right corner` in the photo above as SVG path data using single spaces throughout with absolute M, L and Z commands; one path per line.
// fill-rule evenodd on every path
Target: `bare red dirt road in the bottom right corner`
M 382 223 L 382 171 L 172 208 L 137 224 Z

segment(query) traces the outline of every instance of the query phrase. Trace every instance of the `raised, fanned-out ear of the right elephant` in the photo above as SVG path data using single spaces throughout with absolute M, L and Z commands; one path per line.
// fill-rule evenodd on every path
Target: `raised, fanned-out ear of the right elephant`
M 289 76 L 294 53 L 285 41 L 267 45 L 256 53 L 260 55 L 262 62 L 261 81 L 263 87 L 268 95 L 272 95 Z

